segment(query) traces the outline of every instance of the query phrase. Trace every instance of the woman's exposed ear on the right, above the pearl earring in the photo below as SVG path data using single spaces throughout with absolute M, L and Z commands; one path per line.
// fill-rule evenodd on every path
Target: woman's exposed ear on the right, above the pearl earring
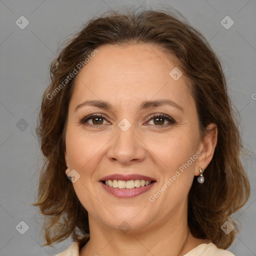
M 199 175 L 199 167 L 205 169 L 210 163 L 214 150 L 217 144 L 217 125 L 210 123 L 207 126 L 207 133 L 199 142 L 200 156 L 197 158 L 197 167 L 194 170 L 194 175 Z

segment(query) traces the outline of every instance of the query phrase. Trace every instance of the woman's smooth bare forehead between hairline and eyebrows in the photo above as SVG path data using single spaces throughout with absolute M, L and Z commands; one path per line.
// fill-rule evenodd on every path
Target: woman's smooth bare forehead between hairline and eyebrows
M 112 104 L 170 98 L 191 101 L 189 80 L 174 80 L 169 72 L 178 60 L 154 44 L 102 45 L 77 74 L 73 96 L 76 103 L 101 99 Z M 72 101 L 72 99 L 71 99 Z

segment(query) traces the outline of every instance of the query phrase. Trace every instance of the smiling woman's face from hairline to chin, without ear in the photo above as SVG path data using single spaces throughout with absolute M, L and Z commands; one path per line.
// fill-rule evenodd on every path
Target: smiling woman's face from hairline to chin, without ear
M 65 160 L 90 221 L 146 230 L 186 220 L 202 144 L 188 80 L 171 71 L 174 60 L 153 44 L 103 45 L 77 74 Z

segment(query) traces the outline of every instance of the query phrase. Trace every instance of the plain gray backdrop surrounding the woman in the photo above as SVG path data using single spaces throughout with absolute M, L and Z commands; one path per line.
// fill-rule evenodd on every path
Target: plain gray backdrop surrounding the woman
M 0 0 L 0 255 L 54 255 L 71 244 L 66 240 L 55 248 L 40 247 L 38 210 L 29 205 L 36 199 L 41 163 L 34 136 L 36 115 L 59 43 L 94 15 L 124 4 L 174 7 L 219 56 L 240 114 L 239 128 L 248 149 L 242 161 L 251 183 L 248 202 L 234 214 L 242 230 L 228 250 L 256 255 L 255 0 Z M 24 29 L 15 24 L 21 15 L 29 21 Z M 226 15 L 234 21 L 229 29 L 220 23 Z M 24 234 L 15 228 L 20 221 L 29 226 Z M 18 230 L 24 231 L 21 226 Z

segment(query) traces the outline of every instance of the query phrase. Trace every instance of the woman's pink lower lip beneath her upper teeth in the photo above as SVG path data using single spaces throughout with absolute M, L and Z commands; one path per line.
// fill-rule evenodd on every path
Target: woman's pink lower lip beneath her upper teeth
M 125 188 L 115 188 L 115 187 L 111 187 L 108 185 L 105 185 L 103 182 L 101 182 L 101 185 L 103 186 L 103 188 L 110 194 L 116 196 L 116 197 L 120 197 L 120 198 L 129 198 L 129 197 L 135 197 L 138 196 L 142 193 L 145 193 L 147 190 L 149 190 L 154 183 L 156 183 L 155 181 L 152 181 L 149 185 L 146 186 L 140 186 L 140 187 L 134 187 L 134 188 L 129 188 L 129 189 L 125 189 Z

